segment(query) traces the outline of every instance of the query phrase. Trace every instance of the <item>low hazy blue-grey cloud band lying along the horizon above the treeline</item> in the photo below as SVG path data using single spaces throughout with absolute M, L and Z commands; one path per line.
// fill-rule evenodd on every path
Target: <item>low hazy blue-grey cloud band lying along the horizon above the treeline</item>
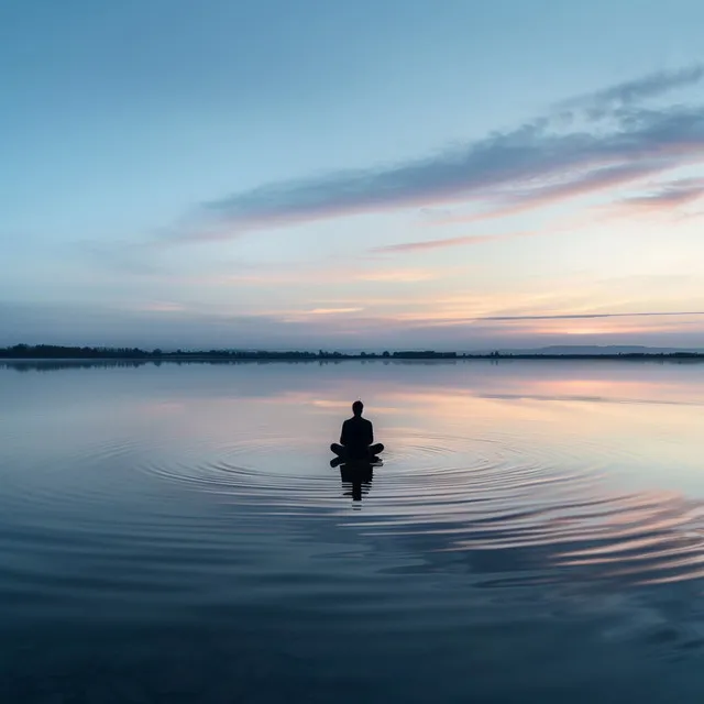
M 607 314 L 601 314 L 603 316 Z M 613 314 L 612 314 L 613 315 Z M 616 316 L 623 314 L 616 314 Z M 658 316 L 659 314 L 653 314 Z M 701 314 L 678 314 L 701 315 Z M 568 317 L 568 316 L 564 316 Z M 519 318 L 519 317 L 517 317 Z M 563 316 L 556 317 L 557 319 Z M 566 332 L 552 327 L 537 329 L 505 324 L 491 318 L 461 318 L 438 321 L 406 320 L 393 316 L 308 315 L 288 319 L 282 314 L 228 315 L 224 311 L 134 311 L 95 305 L 0 304 L 0 345 L 97 344 L 160 346 L 162 349 L 454 349 L 536 346 L 565 343 Z M 641 326 L 588 331 L 580 342 L 608 339 L 624 344 L 704 346 L 704 327 Z M 602 336 L 600 338 L 600 336 Z

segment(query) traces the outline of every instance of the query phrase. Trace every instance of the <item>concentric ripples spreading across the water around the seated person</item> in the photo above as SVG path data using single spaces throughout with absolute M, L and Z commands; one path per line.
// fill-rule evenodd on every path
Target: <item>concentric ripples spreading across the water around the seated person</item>
M 579 570 L 592 580 L 652 583 L 704 573 L 702 507 L 672 492 L 617 488 L 610 476 L 618 468 L 645 466 L 647 458 L 578 435 L 557 441 L 509 432 L 398 432 L 388 438 L 385 464 L 365 485 L 363 510 L 353 519 L 339 470 L 327 466 L 328 455 L 312 440 L 270 433 L 229 443 L 208 436 L 173 442 L 169 451 L 142 449 L 131 469 L 156 480 L 161 492 L 246 505 L 262 521 L 272 514 L 333 516 L 400 544 L 422 538 L 430 556 L 520 550 L 543 579 Z

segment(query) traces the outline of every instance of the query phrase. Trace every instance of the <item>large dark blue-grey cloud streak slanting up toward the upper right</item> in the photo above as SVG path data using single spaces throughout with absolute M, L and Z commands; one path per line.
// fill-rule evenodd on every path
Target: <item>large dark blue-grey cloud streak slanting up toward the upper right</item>
M 704 160 L 701 108 L 646 109 L 637 103 L 693 85 L 703 75 L 696 65 L 578 98 L 572 110 L 586 118 L 581 130 L 564 131 L 560 116 L 549 113 L 426 158 L 235 193 L 206 204 L 207 223 L 182 237 L 227 239 L 322 218 L 483 200 L 506 188 L 529 188 L 524 206 L 556 201 L 698 162 Z M 590 122 L 596 119 L 598 124 Z M 552 185 L 544 183 L 550 179 Z

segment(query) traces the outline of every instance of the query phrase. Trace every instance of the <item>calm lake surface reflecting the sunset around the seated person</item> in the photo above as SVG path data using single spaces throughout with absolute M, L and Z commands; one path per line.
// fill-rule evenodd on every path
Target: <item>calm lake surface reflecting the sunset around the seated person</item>
M 704 701 L 704 364 L 6 362 L 0 400 L 3 703 Z

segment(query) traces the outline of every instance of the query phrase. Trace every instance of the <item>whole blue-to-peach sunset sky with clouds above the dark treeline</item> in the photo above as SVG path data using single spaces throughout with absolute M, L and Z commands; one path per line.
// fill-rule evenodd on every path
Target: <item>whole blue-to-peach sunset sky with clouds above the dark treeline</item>
M 0 3 L 0 345 L 704 348 L 702 26 Z

